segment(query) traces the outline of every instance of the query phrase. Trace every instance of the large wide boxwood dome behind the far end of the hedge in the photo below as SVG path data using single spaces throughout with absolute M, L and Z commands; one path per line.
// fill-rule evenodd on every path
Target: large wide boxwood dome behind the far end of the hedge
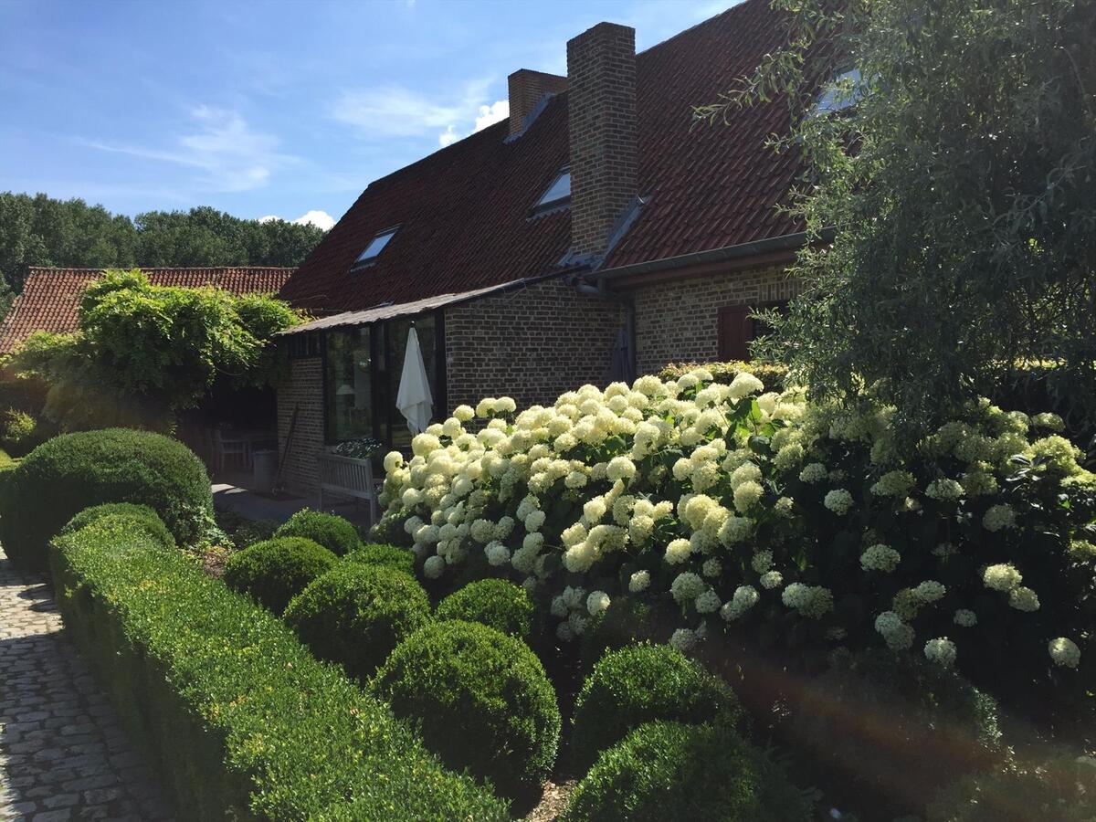
M 180 545 L 213 517 L 205 466 L 182 443 L 147 431 L 61 434 L 15 467 L 0 494 L 0 543 L 15 564 L 45 569 L 49 539 L 73 515 L 103 502 L 148 505 Z

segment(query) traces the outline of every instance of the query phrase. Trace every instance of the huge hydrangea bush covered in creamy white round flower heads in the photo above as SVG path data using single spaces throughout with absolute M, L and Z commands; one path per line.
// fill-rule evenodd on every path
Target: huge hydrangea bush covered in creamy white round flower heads
M 1061 420 L 981 401 L 902 454 L 890 414 L 703 367 L 484 399 L 388 455 L 378 533 L 431 579 L 506 571 L 564 640 L 640 596 L 681 612 L 680 647 L 776 614 L 803 652 L 1083 665 L 1096 476 Z

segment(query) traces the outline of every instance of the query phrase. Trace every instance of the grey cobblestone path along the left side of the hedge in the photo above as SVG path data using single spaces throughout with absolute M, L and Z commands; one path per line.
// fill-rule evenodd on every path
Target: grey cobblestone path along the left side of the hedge
M 45 578 L 0 549 L 0 822 L 170 819 Z

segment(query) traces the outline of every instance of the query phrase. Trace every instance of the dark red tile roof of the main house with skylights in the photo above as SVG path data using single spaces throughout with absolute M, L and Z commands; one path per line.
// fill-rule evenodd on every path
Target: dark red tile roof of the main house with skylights
M 788 127 L 783 100 L 694 124 L 733 80 L 785 43 L 785 18 L 746 0 L 636 58 L 639 194 L 650 196 L 604 267 L 800 230 L 774 205 L 800 171 L 764 142 Z M 570 215 L 529 213 L 568 162 L 567 93 L 504 142 L 505 122 L 375 181 L 289 278 L 282 296 L 316 312 L 361 310 L 544 274 L 570 246 Z M 376 263 L 350 266 L 399 225 Z

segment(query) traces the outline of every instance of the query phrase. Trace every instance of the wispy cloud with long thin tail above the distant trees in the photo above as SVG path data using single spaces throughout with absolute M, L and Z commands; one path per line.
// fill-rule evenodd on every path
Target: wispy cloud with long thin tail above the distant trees
M 266 184 L 271 173 L 299 162 L 278 150 L 279 140 L 254 132 L 236 112 L 201 105 L 191 111 L 197 130 L 160 149 L 95 140 L 87 146 L 147 160 L 160 160 L 204 172 L 202 184 L 213 191 L 250 191 Z

